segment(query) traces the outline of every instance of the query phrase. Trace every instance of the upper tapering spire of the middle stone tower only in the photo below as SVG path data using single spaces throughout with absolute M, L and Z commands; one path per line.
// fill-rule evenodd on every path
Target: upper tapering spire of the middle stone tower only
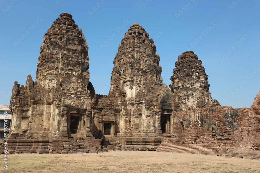
M 161 85 L 160 57 L 154 41 L 145 29 L 135 22 L 122 38 L 115 55 L 109 95 L 134 98 L 136 91 L 155 80 Z

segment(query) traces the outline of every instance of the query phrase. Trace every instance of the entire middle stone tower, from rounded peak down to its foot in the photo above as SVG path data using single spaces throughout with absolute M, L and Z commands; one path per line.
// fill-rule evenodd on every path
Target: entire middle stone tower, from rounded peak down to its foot
M 172 112 L 173 102 L 170 89 L 162 85 L 159 61 L 154 41 L 135 22 L 125 33 L 115 55 L 108 95 L 118 99 L 121 109 L 116 118 L 120 124 L 118 136 L 162 134 L 160 116 L 162 112 Z

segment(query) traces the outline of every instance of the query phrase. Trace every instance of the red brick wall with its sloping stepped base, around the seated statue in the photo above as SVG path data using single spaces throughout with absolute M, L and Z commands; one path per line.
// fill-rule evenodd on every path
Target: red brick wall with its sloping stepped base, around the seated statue
M 233 157 L 260 158 L 260 93 L 251 108 L 233 109 L 230 106 L 199 108 L 173 114 L 175 138 L 162 138 L 157 151 L 175 151 Z M 220 133 L 231 140 L 211 138 L 212 120 Z M 196 144 L 198 140 L 198 144 Z M 215 147 L 219 147 L 216 150 Z M 203 149 L 204 148 L 204 149 Z

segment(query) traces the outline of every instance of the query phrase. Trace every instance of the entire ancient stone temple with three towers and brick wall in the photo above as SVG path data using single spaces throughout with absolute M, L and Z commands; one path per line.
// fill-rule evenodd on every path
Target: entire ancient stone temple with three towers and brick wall
M 60 14 L 43 37 L 35 81 L 30 75 L 25 86 L 15 81 L 9 153 L 157 150 L 259 158 L 260 93 L 251 108 L 222 107 L 194 52 L 178 57 L 170 89 L 159 61 L 153 39 L 134 23 L 115 54 L 109 94 L 97 95 L 82 30 L 72 15 Z

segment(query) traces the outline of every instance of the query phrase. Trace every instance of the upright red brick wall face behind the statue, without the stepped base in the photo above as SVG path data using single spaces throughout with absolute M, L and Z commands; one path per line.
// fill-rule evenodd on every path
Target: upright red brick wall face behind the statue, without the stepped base
M 259 144 L 260 118 L 252 114 L 256 113 L 250 108 L 233 109 L 229 106 L 176 112 L 173 115 L 173 129 L 175 136 L 182 139 L 180 143 L 195 143 L 196 140 L 203 142 L 203 138 L 211 138 L 210 126 L 212 120 L 215 120 L 219 132 L 231 135 L 234 145 L 249 143 L 256 146 Z

